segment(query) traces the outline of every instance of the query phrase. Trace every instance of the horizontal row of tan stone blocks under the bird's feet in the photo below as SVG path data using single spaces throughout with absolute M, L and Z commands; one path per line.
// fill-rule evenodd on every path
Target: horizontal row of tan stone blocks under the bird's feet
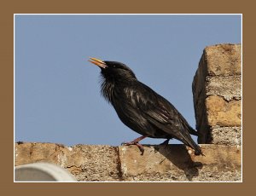
M 82 182 L 241 182 L 241 147 L 201 145 L 195 156 L 184 145 L 65 147 L 54 143 L 15 143 L 15 166 L 48 162 Z

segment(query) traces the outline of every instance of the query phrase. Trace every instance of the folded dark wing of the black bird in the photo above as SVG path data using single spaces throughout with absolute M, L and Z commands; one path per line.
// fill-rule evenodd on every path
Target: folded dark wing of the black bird
M 175 138 L 189 136 L 193 129 L 177 109 L 164 97 L 158 95 L 145 84 L 141 84 L 136 94 L 136 105 L 147 117 L 148 122 Z

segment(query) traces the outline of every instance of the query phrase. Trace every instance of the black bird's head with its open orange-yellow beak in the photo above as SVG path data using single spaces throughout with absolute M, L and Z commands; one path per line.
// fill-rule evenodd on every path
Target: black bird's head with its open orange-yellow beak
M 99 66 L 102 70 L 102 76 L 106 80 L 114 82 L 125 82 L 137 79 L 134 72 L 125 64 L 117 61 L 102 61 L 96 58 L 90 58 L 91 63 Z

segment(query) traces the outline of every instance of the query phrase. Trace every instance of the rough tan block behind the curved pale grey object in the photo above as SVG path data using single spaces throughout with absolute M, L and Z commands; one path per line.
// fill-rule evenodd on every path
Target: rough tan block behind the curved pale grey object
M 110 146 L 15 144 L 15 165 L 36 162 L 58 164 L 69 170 L 78 181 L 119 181 L 118 161 L 117 149 Z

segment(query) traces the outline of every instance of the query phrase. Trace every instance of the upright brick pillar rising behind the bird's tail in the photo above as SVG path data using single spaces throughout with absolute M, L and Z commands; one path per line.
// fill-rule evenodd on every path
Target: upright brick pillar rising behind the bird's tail
M 236 129 L 241 126 L 241 44 L 218 44 L 204 49 L 192 90 L 198 142 L 241 143 L 237 141 L 241 140 L 241 131 Z M 227 130 L 236 137 L 222 137 Z

